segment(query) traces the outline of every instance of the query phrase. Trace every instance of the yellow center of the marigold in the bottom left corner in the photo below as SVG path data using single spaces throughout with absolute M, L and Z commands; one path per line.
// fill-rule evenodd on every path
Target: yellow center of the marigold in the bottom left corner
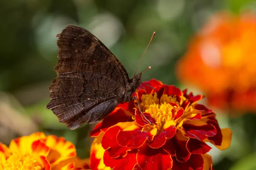
M 40 158 L 38 158 L 40 159 Z M 4 165 L 4 170 L 43 170 L 42 164 L 32 155 L 13 153 Z

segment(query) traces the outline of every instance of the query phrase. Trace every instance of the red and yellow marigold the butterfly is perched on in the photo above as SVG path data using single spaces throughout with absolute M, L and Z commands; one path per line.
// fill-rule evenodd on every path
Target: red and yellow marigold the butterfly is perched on
M 194 96 L 157 80 L 144 82 L 137 101 L 119 105 L 96 125 L 91 136 L 92 170 L 209 170 L 211 142 L 221 150 L 230 145 L 232 132 L 220 129 L 215 113 Z M 135 95 L 135 94 L 134 94 Z

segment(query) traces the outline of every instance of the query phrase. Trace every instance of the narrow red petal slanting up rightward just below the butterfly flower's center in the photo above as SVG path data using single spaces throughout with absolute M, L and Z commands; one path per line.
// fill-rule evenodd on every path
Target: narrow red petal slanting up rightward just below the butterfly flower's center
M 166 128 L 165 131 L 155 136 L 152 142 L 150 142 L 148 145 L 152 148 L 162 147 L 163 144 L 166 143 L 166 140 L 172 138 L 175 135 L 175 133 L 176 133 L 175 126 L 170 126 Z

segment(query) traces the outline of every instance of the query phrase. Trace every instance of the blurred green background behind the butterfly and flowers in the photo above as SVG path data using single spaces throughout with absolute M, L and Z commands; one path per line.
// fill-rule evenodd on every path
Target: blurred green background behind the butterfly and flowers
M 93 127 L 84 125 L 72 131 L 45 109 L 49 85 L 56 77 L 55 34 L 66 25 L 81 26 L 93 33 L 110 48 L 130 76 L 156 31 L 139 67 L 139 71 L 152 67 L 143 74 L 143 80 L 155 78 L 184 88 L 175 77 L 175 63 L 185 53 L 190 37 L 215 12 L 240 13 L 246 9 L 256 11 L 256 1 L 0 1 L 0 141 L 9 144 L 17 136 L 44 131 L 64 136 L 76 144 L 79 156 L 89 156 L 93 139 L 88 134 Z M 218 120 L 221 127 L 233 130 L 233 140 L 228 150 L 212 149 L 215 170 L 255 170 L 256 116 L 220 116 Z

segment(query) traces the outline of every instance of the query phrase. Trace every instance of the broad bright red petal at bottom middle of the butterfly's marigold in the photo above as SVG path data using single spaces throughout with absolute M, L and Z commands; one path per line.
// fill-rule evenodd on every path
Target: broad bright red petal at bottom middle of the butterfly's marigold
M 137 161 L 142 170 L 168 170 L 172 167 L 172 158 L 162 147 L 153 149 L 145 144 L 139 148 Z

